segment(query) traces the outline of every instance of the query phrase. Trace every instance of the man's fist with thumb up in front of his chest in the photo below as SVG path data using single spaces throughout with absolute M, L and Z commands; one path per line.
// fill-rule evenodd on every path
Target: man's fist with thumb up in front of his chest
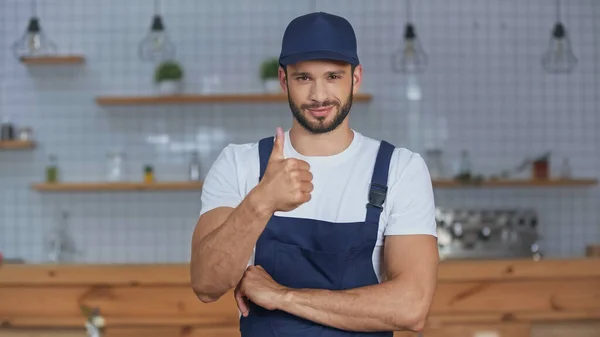
M 273 152 L 259 183 L 261 197 L 273 212 L 291 211 L 310 200 L 313 190 L 312 173 L 307 162 L 296 158 L 284 158 L 284 134 L 277 128 Z

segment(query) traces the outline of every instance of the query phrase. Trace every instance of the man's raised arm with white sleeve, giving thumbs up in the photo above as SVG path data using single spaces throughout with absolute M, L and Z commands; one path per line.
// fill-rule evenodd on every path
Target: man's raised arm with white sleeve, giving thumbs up
M 265 176 L 237 207 L 230 207 L 240 193 L 231 150 L 219 156 L 206 176 L 202 203 L 224 206 L 202 214 L 192 238 L 192 289 L 204 303 L 218 300 L 240 282 L 256 241 L 275 211 L 292 210 L 310 200 L 309 165 L 283 157 L 283 137 L 278 128 Z

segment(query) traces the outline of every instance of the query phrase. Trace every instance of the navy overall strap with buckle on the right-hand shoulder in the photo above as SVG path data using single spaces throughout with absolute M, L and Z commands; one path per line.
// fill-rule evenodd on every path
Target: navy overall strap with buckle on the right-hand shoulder
M 379 216 L 383 211 L 383 203 L 387 194 L 388 172 L 390 161 L 394 153 L 394 146 L 385 140 L 382 140 L 375 159 L 375 168 L 371 178 L 371 187 L 369 189 L 369 202 L 367 203 L 366 222 L 379 225 Z

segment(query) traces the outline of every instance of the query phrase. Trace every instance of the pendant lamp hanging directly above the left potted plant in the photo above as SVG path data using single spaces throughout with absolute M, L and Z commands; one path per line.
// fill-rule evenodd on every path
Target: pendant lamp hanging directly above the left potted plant
M 159 0 L 154 0 L 150 31 L 140 42 L 138 53 L 140 60 L 149 62 L 169 60 L 175 56 L 175 45 L 167 35 L 162 16 L 159 14 Z

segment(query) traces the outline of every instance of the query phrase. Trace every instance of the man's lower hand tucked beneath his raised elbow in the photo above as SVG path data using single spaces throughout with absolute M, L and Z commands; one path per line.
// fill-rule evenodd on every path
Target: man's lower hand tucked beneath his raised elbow
M 235 301 L 244 317 L 250 308 L 248 301 L 267 310 L 279 307 L 288 288 L 275 282 L 261 266 L 249 266 L 235 288 Z

